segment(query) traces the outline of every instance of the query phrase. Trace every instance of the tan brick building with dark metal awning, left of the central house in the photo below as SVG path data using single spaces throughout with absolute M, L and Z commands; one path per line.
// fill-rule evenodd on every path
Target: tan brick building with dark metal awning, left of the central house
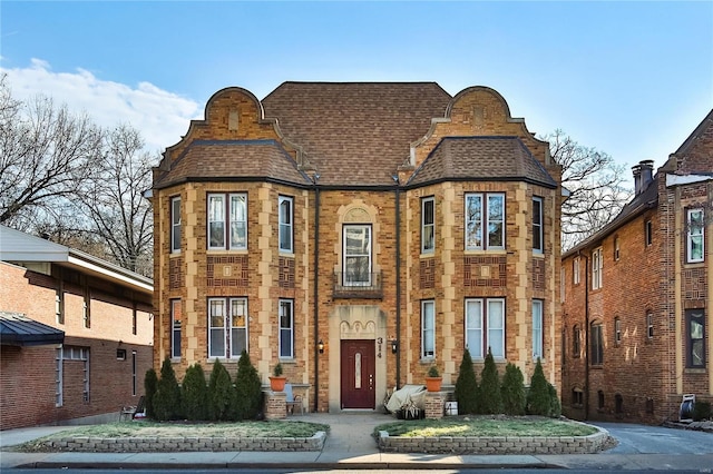
M 0 428 L 116 419 L 153 363 L 150 278 L 0 226 Z

